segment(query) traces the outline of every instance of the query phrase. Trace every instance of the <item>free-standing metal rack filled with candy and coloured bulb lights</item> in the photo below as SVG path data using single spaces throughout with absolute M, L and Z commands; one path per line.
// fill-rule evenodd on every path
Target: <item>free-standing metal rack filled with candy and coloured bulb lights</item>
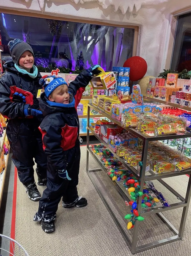
M 139 86 L 137 85 L 133 90 L 135 93 L 133 92 L 132 101 L 135 101 L 136 97 L 140 97 Z M 162 179 L 190 174 L 191 163 L 186 155 L 184 156 L 174 148 L 167 147 L 160 141 L 190 139 L 191 133 L 186 130 L 186 119 L 161 114 L 160 108 L 157 109 L 155 104 L 144 104 L 143 102 L 143 105 L 122 104 L 104 98 L 93 97 L 93 104 L 88 104 L 88 111 L 94 109 L 112 122 L 103 121 L 96 126 L 88 127 L 87 133 L 94 134 L 102 144 L 90 146 L 87 136 L 87 160 L 91 155 L 97 161 L 100 169 L 107 173 L 116 191 L 130 207 L 130 210 L 127 208 L 124 218 L 127 220 L 127 229 L 133 229 L 132 241 L 126 233 L 125 227 L 119 223 L 118 216 L 115 216 L 110 208 L 106 197 L 98 189 L 102 200 L 107 205 L 117 227 L 124 234 L 125 241 L 132 253 L 163 245 L 166 240 L 172 242 L 182 239 L 185 222 L 181 222 L 180 231 L 176 231 L 162 215 L 162 212 L 184 207 L 182 219 L 186 219 L 191 196 L 191 178 L 188 181 L 186 199 Z M 141 100 L 143 101 L 143 98 L 139 98 L 138 103 Z M 87 120 L 87 123 L 89 122 L 90 120 Z M 94 176 L 100 169 L 89 171 L 88 165 L 86 169 L 92 183 L 97 188 Z M 164 198 L 162 191 L 157 191 L 157 186 L 151 180 L 161 183 L 173 194 L 177 202 L 168 203 L 168 198 Z M 124 188 L 126 188 L 126 192 Z M 149 218 L 149 215 L 152 214 L 157 214 L 176 236 L 137 247 L 139 222 L 144 221 L 145 216 Z

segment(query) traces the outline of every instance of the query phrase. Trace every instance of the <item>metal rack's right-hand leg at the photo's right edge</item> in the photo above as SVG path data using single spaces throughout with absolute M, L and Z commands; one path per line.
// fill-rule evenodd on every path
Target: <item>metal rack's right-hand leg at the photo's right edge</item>
M 190 197 L 191 197 L 191 175 L 190 175 L 189 180 L 188 180 L 188 187 L 187 187 L 186 197 L 185 197 L 185 202 L 188 203 L 188 204 L 187 204 L 187 206 L 185 206 L 183 208 L 182 218 L 181 218 L 181 222 L 180 222 L 179 236 L 180 236 L 181 239 L 183 238 L 186 218 L 187 218 L 187 214 L 188 214 L 188 207 L 189 207 Z

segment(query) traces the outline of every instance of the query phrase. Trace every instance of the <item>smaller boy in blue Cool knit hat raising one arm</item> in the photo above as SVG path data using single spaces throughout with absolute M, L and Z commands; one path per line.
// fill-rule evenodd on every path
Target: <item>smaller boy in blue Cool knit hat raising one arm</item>
M 49 76 L 39 81 L 45 88 L 40 98 L 40 109 L 45 117 L 39 129 L 47 154 L 47 188 L 34 221 L 41 221 L 47 233 L 55 230 L 54 220 L 61 197 L 65 208 L 87 205 L 86 198 L 79 197 L 77 191 L 80 164 L 77 106 L 93 75 L 100 72 L 98 67 L 82 71 L 69 87 L 62 77 Z

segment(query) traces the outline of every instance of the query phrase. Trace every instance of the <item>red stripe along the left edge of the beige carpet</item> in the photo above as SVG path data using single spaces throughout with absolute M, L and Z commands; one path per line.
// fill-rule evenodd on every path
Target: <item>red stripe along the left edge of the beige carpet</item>
M 13 201 L 12 201 L 12 218 L 11 218 L 11 238 L 12 239 L 15 239 L 16 201 L 17 201 L 17 168 L 15 167 Z M 11 244 L 10 244 L 10 253 L 13 254 L 13 249 Z

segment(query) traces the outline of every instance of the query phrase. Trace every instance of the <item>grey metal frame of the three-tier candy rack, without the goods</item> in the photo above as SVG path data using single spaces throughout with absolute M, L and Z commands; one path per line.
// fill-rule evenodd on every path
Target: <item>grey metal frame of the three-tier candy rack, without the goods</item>
M 121 126 L 121 123 L 119 121 L 117 121 L 116 119 L 112 118 L 109 114 L 105 113 L 104 111 L 102 111 L 98 107 L 94 106 L 93 104 L 88 104 L 88 117 L 87 117 L 87 119 L 88 119 L 87 122 L 88 123 L 89 123 L 89 119 L 90 119 L 90 108 L 98 111 L 103 116 L 109 118 L 111 121 L 113 121 L 116 124 Z M 100 138 L 99 135 L 97 135 L 94 131 L 92 131 L 90 129 L 90 127 L 88 127 L 88 130 L 87 130 L 86 172 L 87 172 L 88 176 L 90 177 L 91 182 L 93 183 L 94 187 L 96 188 L 96 190 L 97 190 L 98 194 L 100 195 L 101 199 L 103 200 L 105 206 L 107 207 L 108 211 L 110 212 L 110 215 L 112 216 L 113 220 L 115 221 L 115 223 L 116 223 L 119 231 L 121 232 L 122 236 L 124 237 L 126 243 L 128 244 L 129 248 L 131 249 L 131 252 L 134 254 L 134 253 L 138 253 L 138 252 L 141 252 L 141 251 L 144 251 L 144 250 L 147 250 L 147 249 L 151 249 L 151 248 L 154 248 L 154 247 L 157 247 L 157 246 L 161 246 L 161 245 L 169 243 L 169 242 L 181 240 L 183 238 L 183 233 L 184 233 L 184 228 L 185 228 L 185 223 L 186 223 L 186 217 L 187 217 L 188 207 L 189 207 L 189 202 L 190 202 L 190 197 L 191 197 L 191 175 L 189 177 L 185 198 L 183 198 L 178 192 L 176 192 L 166 182 L 164 182 L 162 180 L 162 178 L 179 176 L 179 175 L 184 175 L 184 174 L 190 174 L 191 173 L 191 168 L 183 170 L 181 172 L 174 171 L 174 172 L 166 172 L 166 173 L 155 174 L 151 170 L 148 170 L 147 165 L 146 165 L 146 161 L 147 161 L 147 153 L 148 153 L 148 144 L 149 144 L 150 141 L 159 141 L 159 140 L 176 139 L 176 138 L 186 138 L 186 137 L 191 137 L 191 133 L 186 132 L 184 134 L 147 136 L 147 135 L 145 135 L 145 134 L 143 134 L 143 133 L 141 133 L 141 132 L 139 132 L 139 131 L 137 131 L 137 130 L 135 130 L 133 128 L 125 127 L 124 129 L 126 129 L 128 132 L 134 134 L 135 136 L 137 136 L 137 137 L 139 137 L 139 138 L 141 138 L 143 140 L 143 150 L 142 150 L 142 157 L 141 157 L 141 161 L 142 161 L 143 166 L 141 168 L 140 175 L 139 175 L 138 171 L 134 167 L 132 167 L 129 164 L 127 164 L 127 162 L 125 161 L 124 158 L 117 156 L 117 154 L 114 153 L 111 149 L 109 149 L 109 150 L 114 154 L 115 157 L 117 157 L 123 163 L 123 165 L 135 177 L 137 177 L 139 179 L 139 183 L 140 183 L 140 187 L 141 187 L 139 191 L 143 192 L 144 181 L 158 180 L 158 182 L 160 182 L 163 186 L 165 186 L 173 195 L 175 195 L 176 197 L 178 197 L 180 199 L 180 202 L 174 203 L 174 204 L 170 204 L 170 207 L 167 207 L 167 208 L 165 208 L 165 207 L 157 207 L 157 208 L 154 208 L 154 209 L 144 209 L 144 210 L 142 210 L 142 208 L 141 208 L 141 200 L 139 200 L 139 202 L 138 202 L 138 212 L 140 212 L 140 216 L 148 216 L 148 215 L 151 215 L 151 214 L 156 214 L 160 219 L 162 219 L 163 222 L 165 222 L 165 224 L 168 226 L 168 228 L 174 233 L 174 236 L 168 237 L 168 238 L 165 238 L 165 239 L 162 239 L 162 240 L 154 241 L 154 242 L 151 242 L 149 244 L 144 244 L 142 246 L 137 247 L 139 221 L 135 222 L 135 225 L 134 225 L 134 228 L 133 228 L 132 241 L 131 241 L 129 239 L 129 237 L 127 236 L 126 232 L 124 231 L 124 229 L 121 227 L 121 225 L 120 225 L 120 223 L 119 223 L 119 221 L 117 219 L 117 216 L 115 216 L 114 212 L 112 211 L 111 207 L 109 206 L 108 202 L 106 201 L 106 199 L 105 199 L 104 195 L 102 194 L 101 190 L 97 186 L 93 176 L 91 175 L 92 172 L 103 171 L 105 173 L 105 175 L 111 180 L 111 183 L 113 184 L 113 186 L 115 187 L 115 189 L 117 190 L 119 195 L 125 201 L 127 201 L 127 202 L 130 201 L 128 196 L 124 193 L 124 191 L 120 188 L 120 186 L 115 181 L 112 181 L 112 178 L 107 175 L 107 170 L 101 165 L 101 163 L 98 160 L 98 158 L 91 151 L 91 147 L 89 145 L 89 133 L 90 132 L 94 136 L 96 136 L 96 138 L 101 143 L 103 143 L 103 145 L 107 146 L 107 144 Z M 99 164 L 99 166 L 100 166 L 99 169 L 89 170 L 89 154 Z M 146 175 L 147 173 L 149 175 Z M 172 210 L 172 209 L 181 208 L 181 207 L 183 207 L 183 212 L 182 212 L 182 217 L 181 217 L 181 222 L 180 222 L 180 228 L 179 228 L 179 231 L 178 231 L 166 219 L 166 217 L 162 214 L 162 212 L 168 211 L 168 210 Z

